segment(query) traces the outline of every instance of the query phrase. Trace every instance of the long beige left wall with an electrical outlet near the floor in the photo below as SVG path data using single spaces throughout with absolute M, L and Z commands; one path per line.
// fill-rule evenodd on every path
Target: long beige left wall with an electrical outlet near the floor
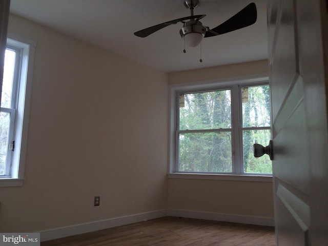
M 0 188 L 0 231 L 166 209 L 168 75 L 14 15 L 9 32 L 37 46 L 26 180 Z

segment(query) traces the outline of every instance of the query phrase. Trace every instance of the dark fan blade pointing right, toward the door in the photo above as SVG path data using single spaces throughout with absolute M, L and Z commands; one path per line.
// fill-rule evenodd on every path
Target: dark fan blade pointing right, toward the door
M 211 29 L 211 31 L 216 32 L 218 34 L 232 32 L 254 24 L 256 22 L 256 19 L 256 5 L 254 3 L 251 3 L 242 10 L 240 10 L 237 14 L 232 16 L 230 19 L 226 20 L 226 22 L 223 22 L 221 25 Z M 212 37 L 218 35 L 214 34 L 213 32 L 207 31 L 204 37 Z

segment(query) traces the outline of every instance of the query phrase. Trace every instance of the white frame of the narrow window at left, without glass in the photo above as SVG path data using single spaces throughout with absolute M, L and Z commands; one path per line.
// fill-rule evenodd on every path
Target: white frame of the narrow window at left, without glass
M 0 176 L 0 187 L 23 185 L 36 43 L 8 33 L 7 46 L 20 51 L 20 67 L 17 74 L 18 86 L 15 99 L 15 119 L 13 121 L 14 125 L 11 126 L 12 129 L 10 130 L 13 133 L 12 137 L 15 141 L 15 147 L 11 153 L 10 171 L 6 173 L 6 176 Z

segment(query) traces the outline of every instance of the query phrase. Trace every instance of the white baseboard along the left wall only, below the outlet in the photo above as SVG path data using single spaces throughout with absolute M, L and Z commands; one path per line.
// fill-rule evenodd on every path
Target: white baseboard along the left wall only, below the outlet
M 131 224 L 131 223 L 146 221 L 149 219 L 156 219 L 165 216 L 167 216 L 166 210 L 160 210 L 160 211 L 154 211 L 149 213 L 134 214 L 130 216 L 93 221 L 84 224 L 75 224 L 74 226 L 57 228 L 57 229 L 42 231 L 39 233 L 40 233 L 41 241 L 48 241 L 51 239 L 68 237 L 68 236 L 83 234 L 87 232 L 94 232 L 98 230 L 123 226 L 125 224 Z

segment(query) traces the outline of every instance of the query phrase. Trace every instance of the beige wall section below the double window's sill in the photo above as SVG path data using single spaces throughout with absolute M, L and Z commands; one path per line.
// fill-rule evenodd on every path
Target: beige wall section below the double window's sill
M 273 218 L 272 182 L 169 179 L 168 208 Z

